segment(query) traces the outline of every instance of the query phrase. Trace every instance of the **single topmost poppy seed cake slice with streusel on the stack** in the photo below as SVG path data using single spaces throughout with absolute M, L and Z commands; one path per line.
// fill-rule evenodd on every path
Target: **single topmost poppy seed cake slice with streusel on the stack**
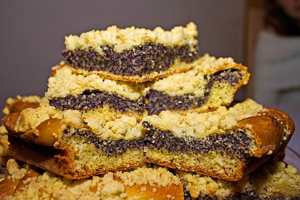
M 140 83 L 192 68 L 199 58 L 197 34 L 193 22 L 171 31 L 112 26 L 65 37 L 62 55 L 83 75 Z

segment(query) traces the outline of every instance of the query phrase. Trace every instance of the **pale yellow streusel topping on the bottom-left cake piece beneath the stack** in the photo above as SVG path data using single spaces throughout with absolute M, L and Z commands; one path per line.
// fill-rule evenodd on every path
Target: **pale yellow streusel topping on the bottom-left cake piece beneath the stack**
M 8 170 L 15 173 L 15 181 L 28 172 L 30 165 L 24 164 L 19 167 L 14 159 L 8 162 Z M 129 184 L 128 184 L 129 183 Z M 96 200 L 125 200 L 133 199 L 128 196 L 126 187 L 133 185 L 149 184 L 155 186 L 153 193 L 160 187 L 169 185 L 179 185 L 179 179 L 169 172 L 166 168 L 136 168 L 126 172 L 116 171 L 107 173 L 103 177 L 93 176 L 81 180 L 70 180 L 51 172 L 43 172 L 40 175 L 23 180 L 23 186 L 18 188 L 11 199 L 33 200 L 43 197 L 50 199 L 96 199 Z M 141 191 L 147 192 L 146 187 Z M 131 193 L 131 195 L 134 195 Z M 138 195 L 138 194 L 136 194 Z M 169 194 L 166 194 L 169 195 Z M 171 199 L 172 199 L 171 195 Z

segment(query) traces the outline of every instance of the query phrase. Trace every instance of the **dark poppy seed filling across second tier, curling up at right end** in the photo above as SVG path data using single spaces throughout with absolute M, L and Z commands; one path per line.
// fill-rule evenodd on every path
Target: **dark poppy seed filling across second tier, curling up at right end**
M 64 98 L 53 98 L 49 100 L 49 105 L 60 110 L 93 110 L 103 108 L 103 105 L 109 105 L 110 108 L 126 113 L 143 113 L 148 111 L 148 115 L 159 114 L 163 110 L 185 110 L 200 107 L 207 102 L 212 85 L 216 82 L 228 82 L 235 85 L 241 81 L 242 75 L 236 69 L 227 69 L 213 74 L 205 90 L 204 97 L 191 98 L 192 94 L 183 96 L 170 97 L 163 92 L 150 89 L 145 97 L 136 101 L 123 99 L 116 94 L 109 94 L 100 91 L 86 91 L 83 94 L 75 96 L 67 96 Z M 145 103 L 147 99 L 147 104 Z

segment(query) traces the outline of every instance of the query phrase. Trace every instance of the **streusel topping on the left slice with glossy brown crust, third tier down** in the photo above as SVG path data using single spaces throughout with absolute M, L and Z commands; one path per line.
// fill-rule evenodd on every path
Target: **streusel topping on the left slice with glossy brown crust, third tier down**
M 42 106 L 35 109 L 24 109 L 17 120 L 15 130 L 17 132 L 26 132 L 51 118 L 62 119 L 62 122 L 68 127 L 83 128 L 88 126 L 101 139 L 130 140 L 140 138 L 144 133 L 142 124 L 138 123 L 135 117 L 121 115 L 118 119 L 106 122 L 103 118 L 96 115 L 84 116 L 77 110 L 57 112 L 55 107 L 49 104 L 42 104 Z M 0 128 L 0 131 L 0 133 L 7 133 L 5 127 Z

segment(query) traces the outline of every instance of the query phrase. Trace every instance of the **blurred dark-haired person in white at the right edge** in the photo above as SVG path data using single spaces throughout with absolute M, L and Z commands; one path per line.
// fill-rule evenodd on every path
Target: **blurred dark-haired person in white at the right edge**
M 294 120 L 289 146 L 300 154 L 300 0 L 266 0 L 264 24 L 254 52 L 253 99 Z

